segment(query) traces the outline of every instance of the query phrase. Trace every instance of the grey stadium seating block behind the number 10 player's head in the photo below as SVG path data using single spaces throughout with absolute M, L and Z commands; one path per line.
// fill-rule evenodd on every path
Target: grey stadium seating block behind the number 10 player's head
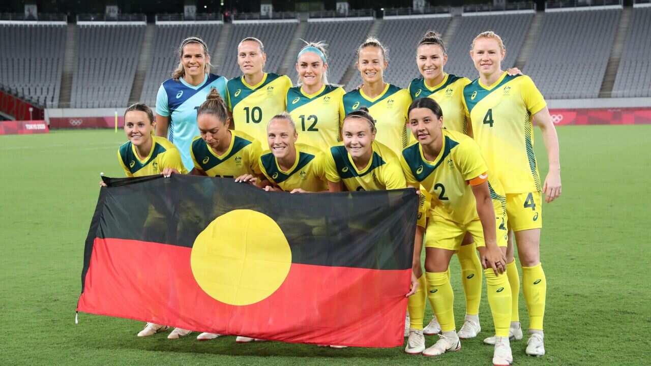
M 219 68 L 219 74 L 228 77 L 241 75 L 240 66 L 237 63 L 238 44 L 245 37 L 255 37 L 264 44 L 264 51 L 267 53 L 267 63 L 264 70 L 278 72 L 283 62 L 289 41 L 296 33 L 298 23 L 235 23 L 232 25 L 229 46 L 223 67 Z

